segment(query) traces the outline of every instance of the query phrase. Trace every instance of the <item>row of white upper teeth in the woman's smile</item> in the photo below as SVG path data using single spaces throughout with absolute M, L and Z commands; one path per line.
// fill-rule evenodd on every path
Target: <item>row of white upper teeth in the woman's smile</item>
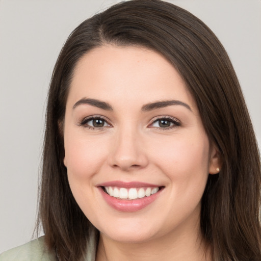
M 106 192 L 115 198 L 120 199 L 137 199 L 149 197 L 159 191 L 159 187 L 156 188 L 117 188 L 117 187 L 105 187 Z

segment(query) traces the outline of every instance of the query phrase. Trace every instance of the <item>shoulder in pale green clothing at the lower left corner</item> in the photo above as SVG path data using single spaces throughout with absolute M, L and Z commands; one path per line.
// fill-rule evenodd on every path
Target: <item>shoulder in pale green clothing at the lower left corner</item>
M 0 261 L 53 261 L 55 255 L 49 252 L 44 243 L 44 237 L 40 237 L 19 247 L 12 248 L 0 254 Z

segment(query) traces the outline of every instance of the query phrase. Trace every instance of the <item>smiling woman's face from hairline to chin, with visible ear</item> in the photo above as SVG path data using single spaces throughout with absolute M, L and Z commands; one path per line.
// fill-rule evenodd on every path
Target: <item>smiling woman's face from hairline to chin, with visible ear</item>
M 68 94 L 64 146 L 71 191 L 102 236 L 143 242 L 198 228 L 216 150 L 158 53 L 107 45 L 86 54 Z

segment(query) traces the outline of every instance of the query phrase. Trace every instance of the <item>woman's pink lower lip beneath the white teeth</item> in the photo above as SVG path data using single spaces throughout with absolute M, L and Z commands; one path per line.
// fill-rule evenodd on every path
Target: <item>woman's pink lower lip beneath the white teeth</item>
M 139 198 L 139 199 L 118 199 L 108 195 L 106 192 L 103 191 L 101 187 L 98 187 L 101 192 L 101 195 L 105 199 L 105 201 L 113 207 L 115 210 L 122 211 L 122 212 L 135 212 L 142 210 L 142 208 L 146 207 L 147 205 L 151 204 L 155 199 L 159 196 L 162 190 L 158 191 L 155 194 L 150 195 L 149 197 Z

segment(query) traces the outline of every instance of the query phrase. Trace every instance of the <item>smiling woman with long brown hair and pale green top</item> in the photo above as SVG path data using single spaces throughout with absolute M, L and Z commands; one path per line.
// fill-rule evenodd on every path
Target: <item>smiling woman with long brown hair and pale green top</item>
M 253 128 L 218 39 L 174 5 L 124 2 L 80 24 L 61 51 L 45 236 L 1 257 L 260 260 L 259 190 Z

